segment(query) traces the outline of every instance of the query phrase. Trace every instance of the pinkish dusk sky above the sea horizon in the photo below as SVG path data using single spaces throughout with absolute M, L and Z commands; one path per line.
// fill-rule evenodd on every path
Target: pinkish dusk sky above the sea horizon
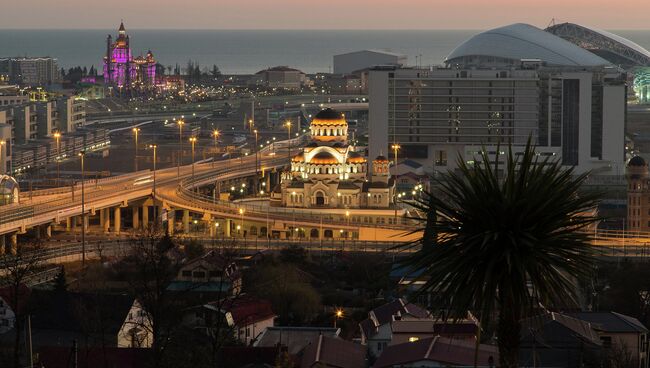
M 8 0 L 0 28 L 488 29 L 551 19 L 650 29 L 649 0 Z

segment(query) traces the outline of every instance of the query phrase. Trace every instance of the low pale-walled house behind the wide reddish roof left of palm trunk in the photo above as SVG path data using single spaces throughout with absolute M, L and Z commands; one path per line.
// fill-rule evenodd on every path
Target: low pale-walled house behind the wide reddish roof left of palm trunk
M 430 319 L 406 319 L 391 322 L 391 341 L 389 345 L 413 342 L 435 336 L 473 343 L 479 329 L 475 319 L 460 321 L 438 321 Z

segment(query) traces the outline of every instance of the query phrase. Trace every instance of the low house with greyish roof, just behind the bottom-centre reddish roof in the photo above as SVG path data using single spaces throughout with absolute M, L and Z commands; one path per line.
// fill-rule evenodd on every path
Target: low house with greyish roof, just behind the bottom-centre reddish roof
M 254 346 L 286 346 L 289 355 L 297 355 L 318 336 L 338 337 L 341 330 L 331 327 L 267 327 L 253 343 Z

